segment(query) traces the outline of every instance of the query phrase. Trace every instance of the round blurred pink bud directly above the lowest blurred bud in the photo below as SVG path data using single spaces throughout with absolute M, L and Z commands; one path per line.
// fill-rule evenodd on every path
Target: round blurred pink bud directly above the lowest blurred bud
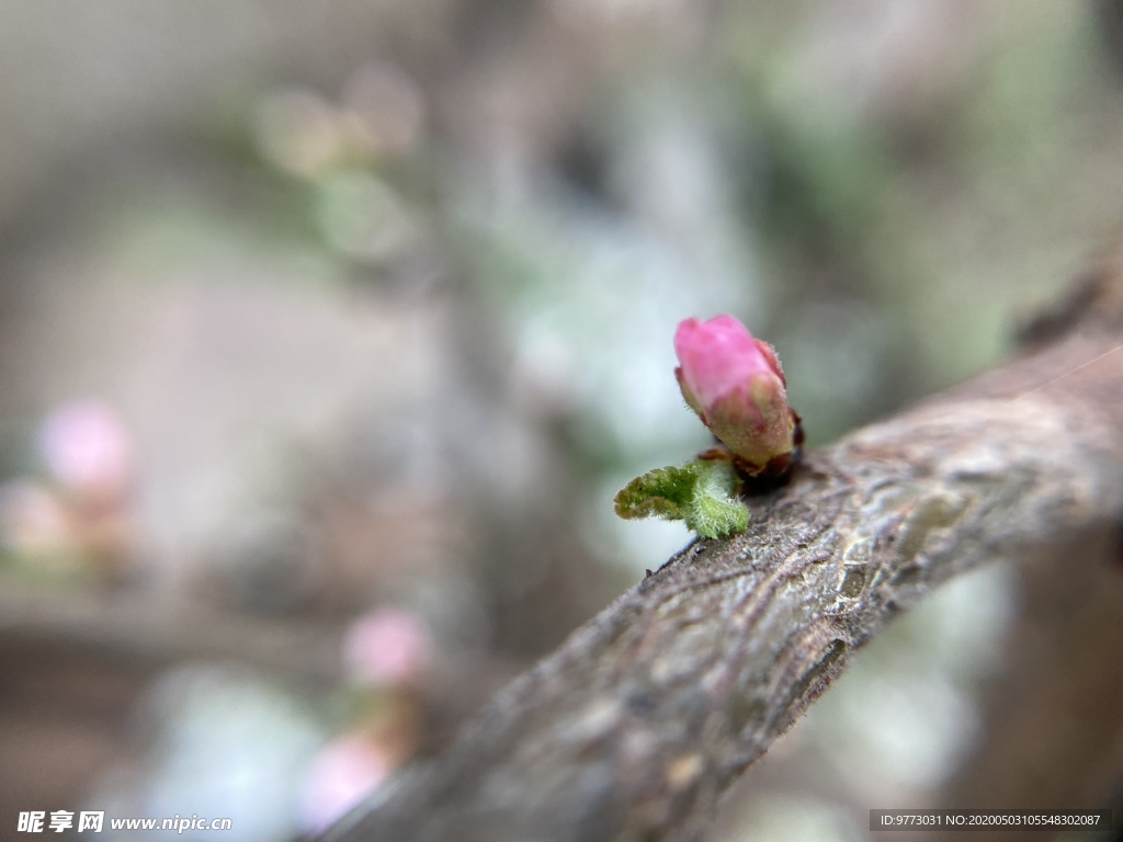
M 348 672 L 360 681 L 381 685 L 419 678 L 432 655 L 424 625 L 401 608 L 382 608 L 359 617 L 344 647 Z

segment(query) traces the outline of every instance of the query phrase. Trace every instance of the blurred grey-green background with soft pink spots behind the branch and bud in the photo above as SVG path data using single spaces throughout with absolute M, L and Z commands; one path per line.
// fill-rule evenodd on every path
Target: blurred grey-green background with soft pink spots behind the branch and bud
M 1119 2 L 0 13 L 0 839 L 323 827 L 688 540 L 612 514 L 707 443 L 678 320 L 773 341 L 814 447 L 1123 218 Z M 713 839 L 932 803 L 1017 594 L 895 625 Z

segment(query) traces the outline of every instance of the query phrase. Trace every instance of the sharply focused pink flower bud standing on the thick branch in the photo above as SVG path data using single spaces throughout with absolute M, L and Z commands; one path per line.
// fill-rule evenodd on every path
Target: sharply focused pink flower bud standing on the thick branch
M 714 436 L 764 470 L 795 449 L 795 418 L 776 351 L 731 315 L 686 319 L 675 331 L 675 369 L 683 397 Z

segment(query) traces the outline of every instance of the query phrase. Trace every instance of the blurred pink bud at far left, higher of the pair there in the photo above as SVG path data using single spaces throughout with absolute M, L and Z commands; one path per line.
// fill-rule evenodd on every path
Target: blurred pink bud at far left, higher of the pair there
M 99 401 L 74 401 L 43 423 L 39 446 L 51 473 L 83 494 L 116 496 L 133 470 L 133 447 L 125 425 Z

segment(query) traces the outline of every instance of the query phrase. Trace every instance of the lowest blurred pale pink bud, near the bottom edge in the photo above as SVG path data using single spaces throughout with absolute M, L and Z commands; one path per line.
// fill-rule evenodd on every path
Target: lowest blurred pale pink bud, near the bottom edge
M 377 745 L 359 736 L 344 736 L 326 745 L 304 779 L 301 821 L 319 833 L 373 793 L 393 771 Z

